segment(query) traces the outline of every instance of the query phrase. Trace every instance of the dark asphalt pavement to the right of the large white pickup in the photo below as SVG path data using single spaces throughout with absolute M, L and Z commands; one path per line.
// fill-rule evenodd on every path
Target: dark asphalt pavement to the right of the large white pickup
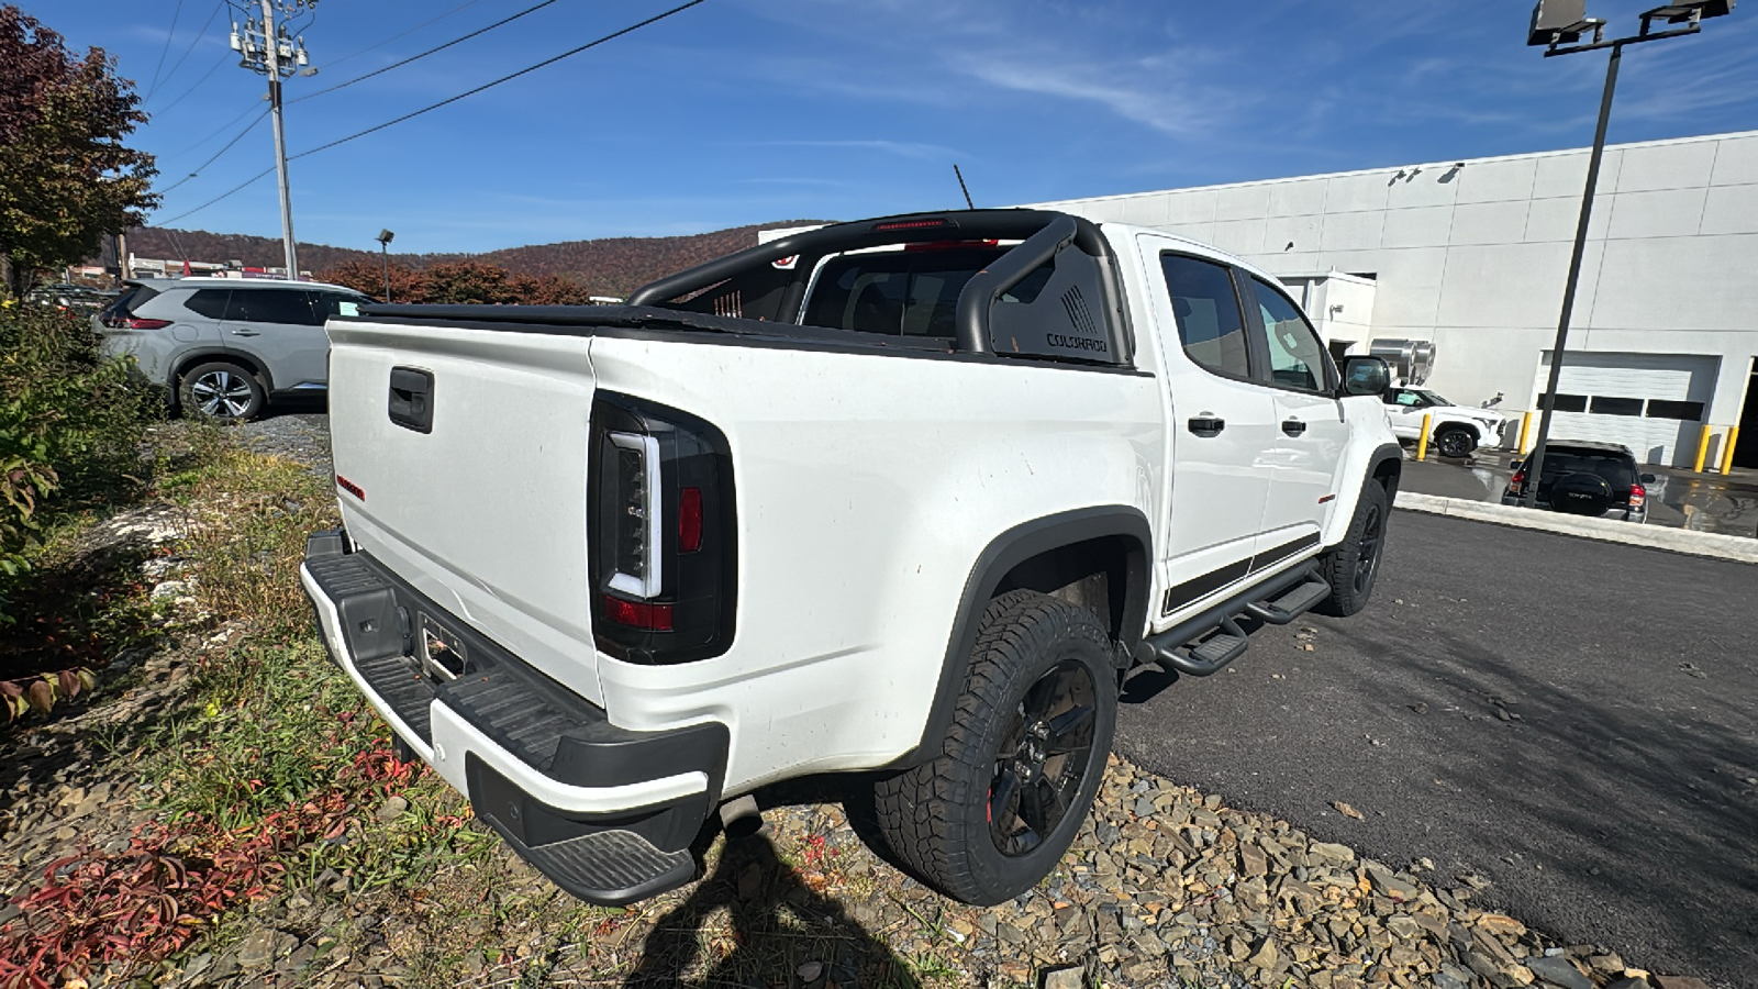
M 1118 750 L 1487 878 L 1565 943 L 1758 985 L 1754 604 L 1758 567 L 1394 512 L 1368 611 L 1264 628 L 1206 679 L 1136 674 Z

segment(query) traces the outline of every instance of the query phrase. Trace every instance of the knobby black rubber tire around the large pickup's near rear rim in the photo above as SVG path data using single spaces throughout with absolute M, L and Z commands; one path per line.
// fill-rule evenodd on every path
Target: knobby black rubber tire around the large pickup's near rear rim
M 1092 686 L 1092 734 L 1081 755 L 1069 755 L 1057 771 L 1072 797 L 1046 834 L 1027 831 L 1037 838 L 1035 843 L 1021 841 L 1028 850 L 1004 853 L 1002 838 L 992 829 L 992 787 L 1006 766 L 1014 766 L 1011 760 L 1025 751 L 1025 743 L 1013 755 L 1002 746 L 1030 734 L 1027 707 L 1034 697 L 1044 697 L 1034 695 L 1034 686 L 1044 683 L 1050 685 L 1044 690 L 1058 693 L 1051 688 L 1067 681 L 1085 690 L 1081 670 Z M 1079 709 L 1083 706 L 1071 700 L 1064 713 Z M 970 669 L 939 755 L 874 785 L 879 832 L 905 868 L 946 896 L 977 906 L 1014 897 L 1048 875 L 1074 841 L 1104 778 L 1115 730 L 1116 665 L 1106 625 L 1060 598 L 1007 591 L 983 612 Z M 1076 764 L 1076 774 L 1064 778 Z M 1016 806 L 1020 817 L 1007 820 L 1027 827 L 1027 806 Z M 1042 804 L 1035 810 L 1042 811 Z

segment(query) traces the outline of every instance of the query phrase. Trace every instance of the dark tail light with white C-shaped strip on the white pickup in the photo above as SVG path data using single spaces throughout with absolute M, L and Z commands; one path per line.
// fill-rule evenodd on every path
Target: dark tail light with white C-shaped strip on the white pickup
M 733 639 L 733 465 L 712 424 L 599 392 L 589 458 L 592 635 L 633 663 L 717 656 Z

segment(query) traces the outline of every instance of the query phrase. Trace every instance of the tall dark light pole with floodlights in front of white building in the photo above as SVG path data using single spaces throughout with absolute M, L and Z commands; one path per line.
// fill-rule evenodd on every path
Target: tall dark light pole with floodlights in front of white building
M 1626 44 L 1660 40 L 1667 37 L 1695 35 L 1704 18 L 1719 18 L 1733 11 L 1735 0 L 1696 0 L 1686 4 L 1668 4 L 1642 14 L 1642 32 L 1605 40 L 1605 21 L 1587 16 L 1587 0 L 1538 0 L 1533 7 L 1531 30 L 1526 44 L 1545 46 L 1545 58 L 1552 55 L 1575 55 L 1579 51 L 1598 51 L 1610 48 L 1612 56 L 1605 63 L 1605 92 L 1600 95 L 1600 123 L 1593 130 L 1593 155 L 1587 157 L 1587 188 L 1580 194 L 1580 218 L 1575 223 L 1575 253 L 1568 259 L 1568 280 L 1563 283 L 1563 313 L 1556 324 L 1556 345 L 1551 348 L 1551 377 L 1545 382 L 1542 414 L 1538 415 L 1538 440 L 1531 456 L 1526 458 L 1526 487 L 1521 491 L 1521 505 L 1528 509 L 1538 500 L 1538 480 L 1544 477 L 1545 442 L 1551 438 L 1551 414 L 1556 408 L 1556 389 L 1563 378 L 1563 350 L 1568 347 L 1568 320 L 1575 311 L 1575 287 L 1580 282 L 1580 259 L 1587 250 L 1587 222 L 1593 216 L 1593 194 L 1600 183 L 1600 160 L 1605 157 L 1605 125 L 1612 120 L 1612 93 L 1617 90 L 1617 63 L 1623 60 Z M 1654 21 L 1684 25 L 1681 28 L 1654 30 Z M 1580 35 L 1593 32 L 1593 40 L 1577 44 Z M 1559 48 L 1568 46 L 1568 48 Z

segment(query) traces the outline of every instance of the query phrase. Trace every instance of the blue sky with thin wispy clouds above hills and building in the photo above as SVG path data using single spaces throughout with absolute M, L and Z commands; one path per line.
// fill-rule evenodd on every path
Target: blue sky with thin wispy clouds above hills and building
M 160 155 L 165 187 L 267 106 L 262 77 L 227 49 L 222 2 L 23 7 L 70 44 L 107 49 L 151 92 L 137 144 Z M 304 28 L 320 74 L 287 83 L 287 97 L 534 2 L 322 0 Z M 288 148 L 373 127 L 675 2 L 559 0 L 290 104 Z M 1589 0 L 1589 12 L 1633 32 L 1651 5 Z M 1707 21 L 1700 37 L 1628 49 L 1612 141 L 1758 128 L 1751 7 Z M 707 0 L 294 162 L 295 231 L 374 248 L 390 227 L 399 250 L 480 252 L 951 208 L 962 202 L 955 162 L 979 206 L 1004 206 L 1584 146 L 1605 55 L 1542 58 L 1524 46 L 1529 11 L 1529 0 Z M 271 164 L 264 120 L 171 190 L 155 220 Z M 278 236 L 274 179 L 174 225 Z

